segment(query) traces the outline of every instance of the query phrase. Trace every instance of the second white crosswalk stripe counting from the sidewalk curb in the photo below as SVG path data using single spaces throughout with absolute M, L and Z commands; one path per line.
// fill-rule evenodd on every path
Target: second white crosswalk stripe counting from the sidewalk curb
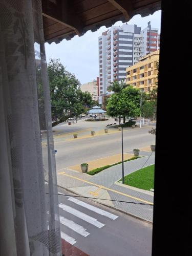
M 72 208 L 72 207 L 70 207 L 68 205 L 60 203 L 59 207 L 61 209 L 65 210 L 65 211 L 69 212 L 70 214 L 78 217 L 79 219 L 84 220 L 84 221 L 86 221 L 86 222 L 88 222 L 88 223 L 90 223 L 90 224 L 92 224 L 92 225 L 94 225 L 94 226 L 96 226 L 98 228 L 101 228 L 101 227 L 104 226 L 104 224 L 99 222 L 99 221 L 97 221 L 97 219 L 95 219 L 95 218 L 93 218 L 93 217 L 91 217 L 91 216 L 89 216 L 87 214 L 84 214 L 83 212 L 81 212 L 79 210 L 76 210 L 76 209 L 74 209 L 74 208 Z

